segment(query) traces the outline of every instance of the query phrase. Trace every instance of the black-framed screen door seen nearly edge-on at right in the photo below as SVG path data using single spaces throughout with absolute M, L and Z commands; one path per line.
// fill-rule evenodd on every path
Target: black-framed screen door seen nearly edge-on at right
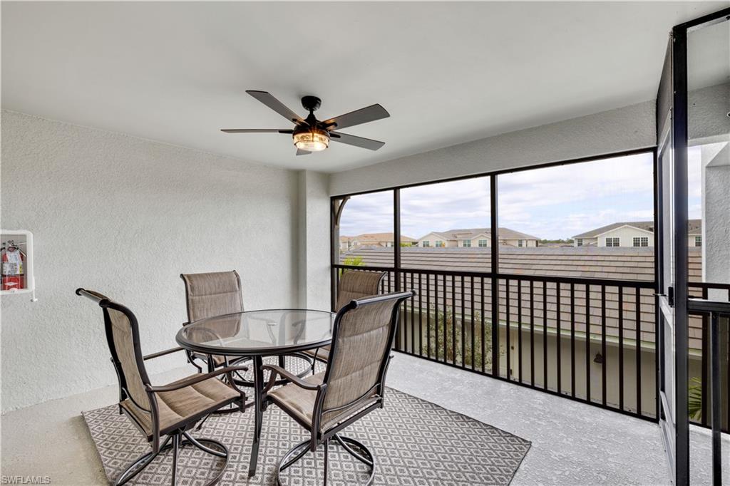
M 659 419 L 675 485 L 689 482 L 685 39 L 669 39 L 656 104 Z

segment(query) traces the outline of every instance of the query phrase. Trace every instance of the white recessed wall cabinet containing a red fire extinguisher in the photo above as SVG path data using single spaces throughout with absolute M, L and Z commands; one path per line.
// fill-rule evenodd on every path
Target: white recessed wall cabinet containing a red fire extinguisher
M 33 234 L 27 230 L 0 230 L 0 295 L 30 294 L 37 301 L 33 277 Z

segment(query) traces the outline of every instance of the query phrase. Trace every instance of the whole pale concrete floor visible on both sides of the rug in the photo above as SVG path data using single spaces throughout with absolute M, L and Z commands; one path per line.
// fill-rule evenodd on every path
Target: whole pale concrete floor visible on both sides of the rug
M 177 369 L 153 382 L 190 373 L 190 368 Z M 399 353 L 388 386 L 531 441 L 513 485 L 669 484 L 655 423 Z M 5 414 L 3 477 L 47 476 L 53 485 L 106 484 L 80 412 L 116 398 L 117 388 L 107 387 Z M 693 431 L 694 484 L 709 484 L 709 444 L 707 433 Z M 730 440 L 723 447 L 730 450 Z M 730 484 L 730 464 L 723 466 Z

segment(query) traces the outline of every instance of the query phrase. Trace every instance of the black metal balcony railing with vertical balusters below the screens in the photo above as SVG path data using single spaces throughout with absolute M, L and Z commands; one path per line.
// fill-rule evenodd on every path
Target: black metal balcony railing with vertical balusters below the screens
M 657 420 L 654 282 L 334 265 L 333 293 L 343 271 L 385 272 L 382 292 L 416 290 L 401 312 L 400 352 Z M 701 296 L 723 288 L 692 285 Z M 707 403 L 704 392 L 703 411 Z M 707 425 L 707 412 L 696 420 Z

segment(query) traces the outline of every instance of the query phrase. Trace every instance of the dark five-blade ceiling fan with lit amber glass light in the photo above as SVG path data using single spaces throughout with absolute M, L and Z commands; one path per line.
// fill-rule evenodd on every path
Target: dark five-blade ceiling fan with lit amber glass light
M 317 96 L 304 96 L 301 99 L 301 106 L 310 112 L 306 118 L 302 118 L 291 111 L 291 109 L 288 109 L 281 101 L 274 98 L 271 93 L 256 90 L 247 90 L 246 93 L 273 109 L 274 112 L 293 122 L 294 128 L 223 128 L 221 131 L 226 132 L 226 134 L 291 135 L 294 139 L 296 155 L 309 155 L 312 152 L 325 150 L 329 146 L 330 140 L 369 150 L 377 150 L 385 145 L 385 142 L 378 142 L 377 140 L 365 139 L 361 136 L 348 135 L 335 131 L 336 129 L 339 130 L 356 126 L 361 123 L 368 123 L 391 116 L 380 104 L 372 104 L 369 107 L 356 109 L 354 112 L 345 113 L 345 115 L 339 115 L 339 117 L 320 121 L 315 117 L 315 111 L 322 103 L 322 100 Z

